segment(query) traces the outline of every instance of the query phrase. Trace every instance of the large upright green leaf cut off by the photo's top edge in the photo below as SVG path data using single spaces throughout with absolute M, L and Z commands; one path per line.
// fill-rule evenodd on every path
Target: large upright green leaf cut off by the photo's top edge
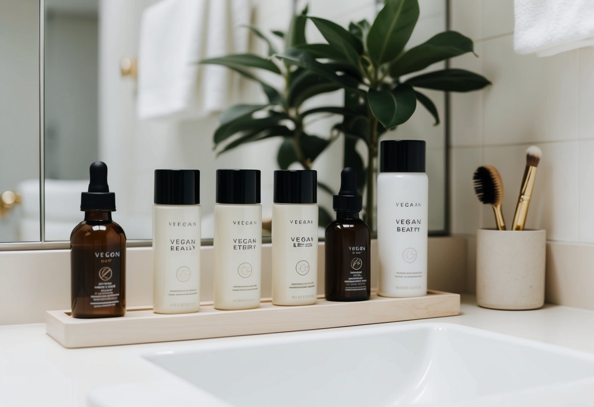
M 417 0 L 386 0 L 367 34 L 371 61 L 380 66 L 396 58 L 410 39 L 419 18 Z

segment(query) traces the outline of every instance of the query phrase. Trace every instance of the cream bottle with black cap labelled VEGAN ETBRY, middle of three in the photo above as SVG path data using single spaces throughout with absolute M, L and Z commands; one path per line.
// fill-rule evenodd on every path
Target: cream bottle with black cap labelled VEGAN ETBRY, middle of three
M 214 205 L 214 308 L 260 307 L 260 170 L 217 170 Z

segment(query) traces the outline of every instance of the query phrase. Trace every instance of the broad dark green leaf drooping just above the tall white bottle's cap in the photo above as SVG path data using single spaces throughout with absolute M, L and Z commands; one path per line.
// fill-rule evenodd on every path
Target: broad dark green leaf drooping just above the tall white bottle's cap
M 406 122 L 416 109 L 415 91 L 409 85 L 398 85 L 391 91 L 370 89 L 368 98 L 371 113 L 385 128 Z

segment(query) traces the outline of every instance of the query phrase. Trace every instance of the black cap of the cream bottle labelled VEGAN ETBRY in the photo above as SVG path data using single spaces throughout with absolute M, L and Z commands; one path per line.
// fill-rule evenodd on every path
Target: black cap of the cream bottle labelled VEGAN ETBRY
M 217 170 L 217 203 L 260 203 L 260 170 Z

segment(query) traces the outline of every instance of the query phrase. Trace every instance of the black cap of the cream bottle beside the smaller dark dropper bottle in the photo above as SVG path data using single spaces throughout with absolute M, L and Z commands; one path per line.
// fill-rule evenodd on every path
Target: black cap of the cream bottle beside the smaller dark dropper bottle
M 274 203 L 317 203 L 318 174 L 315 170 L 274 171 Z

